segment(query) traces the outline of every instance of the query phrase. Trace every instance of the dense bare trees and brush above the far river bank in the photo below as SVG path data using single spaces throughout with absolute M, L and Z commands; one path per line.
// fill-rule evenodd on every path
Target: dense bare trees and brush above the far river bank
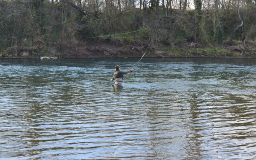
M 120 34 L 126 32 L 132 33 Z M 107 38 L 118 39 L 123 44 L 143 42 L 171 47 L 181 41 L 203 46 L 232 39 L 255 41 L 256 2 L 0 0 L 2 52 L 8 48 L 88 42 L 101 35 L 110 35 Z

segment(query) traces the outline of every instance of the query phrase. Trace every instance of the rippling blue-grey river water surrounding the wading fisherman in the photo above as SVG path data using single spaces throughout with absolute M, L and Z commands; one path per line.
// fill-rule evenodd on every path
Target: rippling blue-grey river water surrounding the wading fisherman
M 254 159 L 256 60 L 0 60 L 0 159 Z

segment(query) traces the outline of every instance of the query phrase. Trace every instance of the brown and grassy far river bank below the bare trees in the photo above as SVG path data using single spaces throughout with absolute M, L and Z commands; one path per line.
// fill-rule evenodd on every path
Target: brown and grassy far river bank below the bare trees
M 0 53 L 0 59 L 57 58 L 256 58 L 255 42 L 223 42 L 222 45 L 202 46 L 181 42 L 174 47 L 148 47 L 146 43 L 124 45 L 118 42 L 65 42 L 63 44 L 38 47 L 10 48 Z

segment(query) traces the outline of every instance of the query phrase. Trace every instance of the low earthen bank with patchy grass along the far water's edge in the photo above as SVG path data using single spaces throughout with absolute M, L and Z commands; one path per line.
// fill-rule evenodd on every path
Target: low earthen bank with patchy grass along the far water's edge
M 52 48 L 56 48 L 53 50 Z M 83 44 L 78 46 L 49 46 L 42 50 L 27 48 L 20 52 L 1 53 L 0 58 L 32 58 L 39 59 L 42 56 L 58 58 L 139 58 L 144 57 L 170 58 L 170 57 L 195 57 L 195 58 L 256 58 L 256 51 L 234 52 L 224 47 L 203 48 L 139 48 L 138 46 L 124 46 L 113 44 Z

